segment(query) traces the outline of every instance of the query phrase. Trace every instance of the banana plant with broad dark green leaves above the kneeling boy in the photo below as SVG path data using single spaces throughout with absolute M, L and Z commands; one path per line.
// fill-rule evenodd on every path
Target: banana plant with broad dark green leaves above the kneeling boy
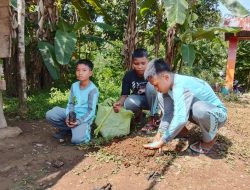
M 53 80 L 60 78 L 60 65 L 67 65 L 70 62 L 72 54 L 76 51 L 77 40 L 110 43 L 101 37 L 87 34 L 77 39 L 77 31 L 87 24 L 92 24 L 105 31 L 115 30 L 112 26 L 99 22 L 91 23 L 81 20 L 70 24 L 64 20 L 60 20 L 57 25 L 58 29 L 55 34 L 54 43 L 52 44 L 47 41 L 38 42 L 38 49 Z

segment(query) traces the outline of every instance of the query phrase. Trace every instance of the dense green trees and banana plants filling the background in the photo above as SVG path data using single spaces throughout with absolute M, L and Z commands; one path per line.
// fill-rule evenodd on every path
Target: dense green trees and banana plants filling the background
M 15 0 L 11 2 L 12 13 L 15 15 Z M 131 2 L 133 1 L 26 1 L 26 117 L 41 119 L 53 106 L 66 106 L 68 89 L 75 81 L 75 62 L 79 58 L 88 58 L 94 62 L 92 80 L 99 87 L 100 102 L 109 97 L 119 97 L 121 79 L 130 68 L 129 63 L 124 60 L 126 39 L 129 38 L 126 31 L 130 27 L 128 14 L 131 6 L 134 6 Z M 222 83 L 219 72 L 225 72 L 228 48 L 224 32 L 234 30 L 221 27 L 218 0 L 135 2 L 135 47 L 146 48 L 150 58 L 168 59 L 171 57 L 168 52 L 171 51 L 174 56 L 170 63 L 175 72 L 203 78 L 211 85 L 215 82 Z M 225 5 L 229 8 L 231 6 L 228 3 Z M 180 7 L 177 9 L 176 6 Z M 177 12 L 179 9 L 181 12 Z M 243 11 L 237 10 L 238 13 L 245 13 L 244 7 L 242 9 Z M 182 20 L 176 21 L 170 14 L 179 14 Z M 172 42 L 169 41 L 171 29 L 175 32 Z M 13 27 L 13 32 L 15 31 L 16 28 Z M 245 88 L 250 86 L 249 48 L 250 43 L 242 41 L 237 52 L 236 79 Z M 13 35 L 12 58 L 4 60 L 7 82 L 4 111 L 12 117 L 19 117 L 19 81 L 15 64 L 17 53 L 17 39 Z

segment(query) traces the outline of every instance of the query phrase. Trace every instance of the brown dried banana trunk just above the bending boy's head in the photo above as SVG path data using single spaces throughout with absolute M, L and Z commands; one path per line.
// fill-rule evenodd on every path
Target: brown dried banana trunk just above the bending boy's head
M 175 55 L 175 44 L 174 44 L 175 33 L 176 33 L 176 26 L 168 29 L 165 60 L 169 64 L 170 68 L 172 68 Z

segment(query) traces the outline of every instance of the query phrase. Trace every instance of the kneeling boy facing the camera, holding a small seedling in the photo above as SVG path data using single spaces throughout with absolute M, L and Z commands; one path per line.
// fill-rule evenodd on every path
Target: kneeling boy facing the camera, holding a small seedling
M 59 129 L 53 136 L 63 139 L 68 132 L 72 132 L 71 142 L 74 144 L 90 141 L 90 127 L 95 117 L 99 92 L 90 77 L 93 63 L 87 59 L 76 63 L 77 82 L 70 89 L 67 108 L 54 107 L 46 113 L 49 123 Z M 75 118 L 74 118 L 75 117 Z

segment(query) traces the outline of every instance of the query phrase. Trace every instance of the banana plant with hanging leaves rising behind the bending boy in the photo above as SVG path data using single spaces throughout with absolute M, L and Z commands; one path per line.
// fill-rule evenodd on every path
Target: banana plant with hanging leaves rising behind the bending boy
M 193 28 L 192 22 L 198 19 L 198 16 L 189 8 L 192 7 L 192 2 L 189 4 L 186 0 L 163 0 L 163 2 L 169 25 L 166 60 L 170 65 L 174 61 L 177 62 L 174 60 L 174 55 L 178 59 L 177 55 L 179 54 L 186 65 L 192 66 L 195 60 L 193 42 L 196 40 L 211 40 L 220 32 L 239 32 L 239 29 L 224 27 Z

